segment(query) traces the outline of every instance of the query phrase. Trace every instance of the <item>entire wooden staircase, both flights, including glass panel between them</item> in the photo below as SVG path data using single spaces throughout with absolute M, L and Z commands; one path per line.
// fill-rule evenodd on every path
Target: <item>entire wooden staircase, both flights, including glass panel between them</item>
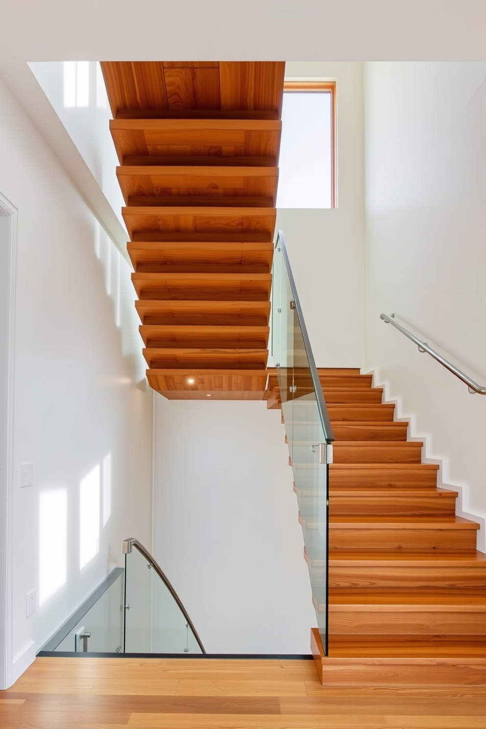
M 313 370 L 278 256 L 283 359 L 267 370 L 284 64 L 102 69 L 149 383 L 174 399 L 282 405 L 323 683 L 485 684 L 478 524 L 455 516 L 458 494 L 437 488 L 437 467 L 422 463 L 423 444 L 407 441 L 372 375 Z

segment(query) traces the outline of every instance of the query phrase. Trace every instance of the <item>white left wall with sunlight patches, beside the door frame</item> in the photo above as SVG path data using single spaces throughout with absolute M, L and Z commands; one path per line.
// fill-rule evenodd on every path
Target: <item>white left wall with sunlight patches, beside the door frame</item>
M 121 540 L 136 535 L 150 541 L 152 392 L 145 388 L 128 265 L 1 81 L 0 108 L 0 191 L 18 208 L 15 679 L 34 647 L 119 564 Z M 34 463 L 34 486 L 20 488 L 20 464 L 26 462 Z M 95 467 L 105 492 L 111 482 L 111 507 L 105 500 L 103 515 L 101 488 L 101 503 L 90 510 L 100 512 L 98 553 L 80 569 L 80 483 Z M 50 493 L 66 504 L 52 528 L 39 525 L 39 504 Z M 39 574 L 42 534 L 57 546 Z M 39 604 L 52 577 L 47 567 L 57 570 L 59 587 Z M 26 593 L 33 589 L 37 609 L 27 618 Z

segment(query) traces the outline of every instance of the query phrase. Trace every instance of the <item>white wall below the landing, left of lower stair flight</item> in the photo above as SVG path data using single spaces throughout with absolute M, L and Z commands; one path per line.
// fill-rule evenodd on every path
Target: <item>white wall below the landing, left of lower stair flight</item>
M 154 556 L 207 652 L 308 653 L 315 625 L 279 410 L 156 396 Z

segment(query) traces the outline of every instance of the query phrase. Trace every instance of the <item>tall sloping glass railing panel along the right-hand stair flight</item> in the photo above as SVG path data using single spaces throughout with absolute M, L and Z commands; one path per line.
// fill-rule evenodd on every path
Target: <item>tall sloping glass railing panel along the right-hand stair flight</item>
M 329 464 L 334 434 L 281 230 L 273 257 L 272 355 L 315 615 L 328 655 Z

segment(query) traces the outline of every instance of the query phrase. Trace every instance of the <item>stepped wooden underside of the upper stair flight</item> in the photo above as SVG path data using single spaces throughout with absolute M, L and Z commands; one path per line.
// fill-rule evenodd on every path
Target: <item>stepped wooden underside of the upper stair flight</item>
M 101 68 L 149 384 L 262 399 L 285 64 Z

